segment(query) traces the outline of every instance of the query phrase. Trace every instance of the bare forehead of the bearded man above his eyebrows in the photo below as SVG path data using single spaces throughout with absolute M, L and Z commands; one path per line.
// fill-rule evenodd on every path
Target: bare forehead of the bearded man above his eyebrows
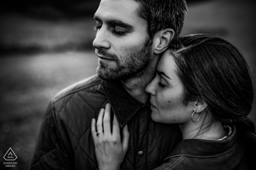
M 101 0 L 95 16 L 138 18 L 139 4 L 134 0 Z

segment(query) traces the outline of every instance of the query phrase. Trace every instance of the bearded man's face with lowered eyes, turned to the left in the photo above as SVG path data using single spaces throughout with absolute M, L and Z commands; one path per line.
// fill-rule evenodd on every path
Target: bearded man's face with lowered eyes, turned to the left
M 147 21 L 137 15 L 134 0 L 101 0 L 95 13 L 97 74 L 104 80 L 126 80 L 142 72 L 151 60 Z

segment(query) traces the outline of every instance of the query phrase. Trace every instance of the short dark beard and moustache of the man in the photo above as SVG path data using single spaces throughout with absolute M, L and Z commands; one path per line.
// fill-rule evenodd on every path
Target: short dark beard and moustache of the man
M 108 68 L 105 63 L 99 62 L 97 67 L 97 74 L 103 80 L 128 80 L 130 78 L 138 77 L 146 70 L 150 64 L 152 42 L 147 38 L 144 46 L 139 50 L 132 51 L 127 56 L 121 56 L 123 62 L 115 54 L 109 54 L 106 50 L 96 49 L 97 54 L 115 60 L 116 67 Z

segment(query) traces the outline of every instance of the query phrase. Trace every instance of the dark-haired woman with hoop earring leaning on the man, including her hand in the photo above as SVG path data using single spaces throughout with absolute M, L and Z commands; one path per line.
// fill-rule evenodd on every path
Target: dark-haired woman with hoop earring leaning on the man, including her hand
M 204 34 L 177 38 L 161 57 L 146 91 L 151 94 L 151 118 L 177 123 L 183 137 L 157 170 L 250 169 L 256 151 L 255 126 L 247 117 L 253 83 L 248 64 L 233 44 Z M 109 119 L 109 104 L 103 114 L 101 110 L 97 128 L 102 128 L 102 119 Z M 122 143 L 116 118 L 113 133 L 109 123 L 103 126 L 97 135 L 92 121 L 99 170 L 119 169 L 128 149 L 127 126 Z

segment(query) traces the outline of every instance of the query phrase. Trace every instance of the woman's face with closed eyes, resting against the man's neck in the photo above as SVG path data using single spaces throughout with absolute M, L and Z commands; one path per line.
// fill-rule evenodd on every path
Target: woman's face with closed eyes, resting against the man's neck
M 151 94 L 151 118 L 155 122 L 191 122 L 194 107 L 182 103 L 183 86 L 175 70 L 173 56 L 169 55 L 169 50 L 166 50 L 159 60 L 157 75 L 146 88 L 146 92 Z

